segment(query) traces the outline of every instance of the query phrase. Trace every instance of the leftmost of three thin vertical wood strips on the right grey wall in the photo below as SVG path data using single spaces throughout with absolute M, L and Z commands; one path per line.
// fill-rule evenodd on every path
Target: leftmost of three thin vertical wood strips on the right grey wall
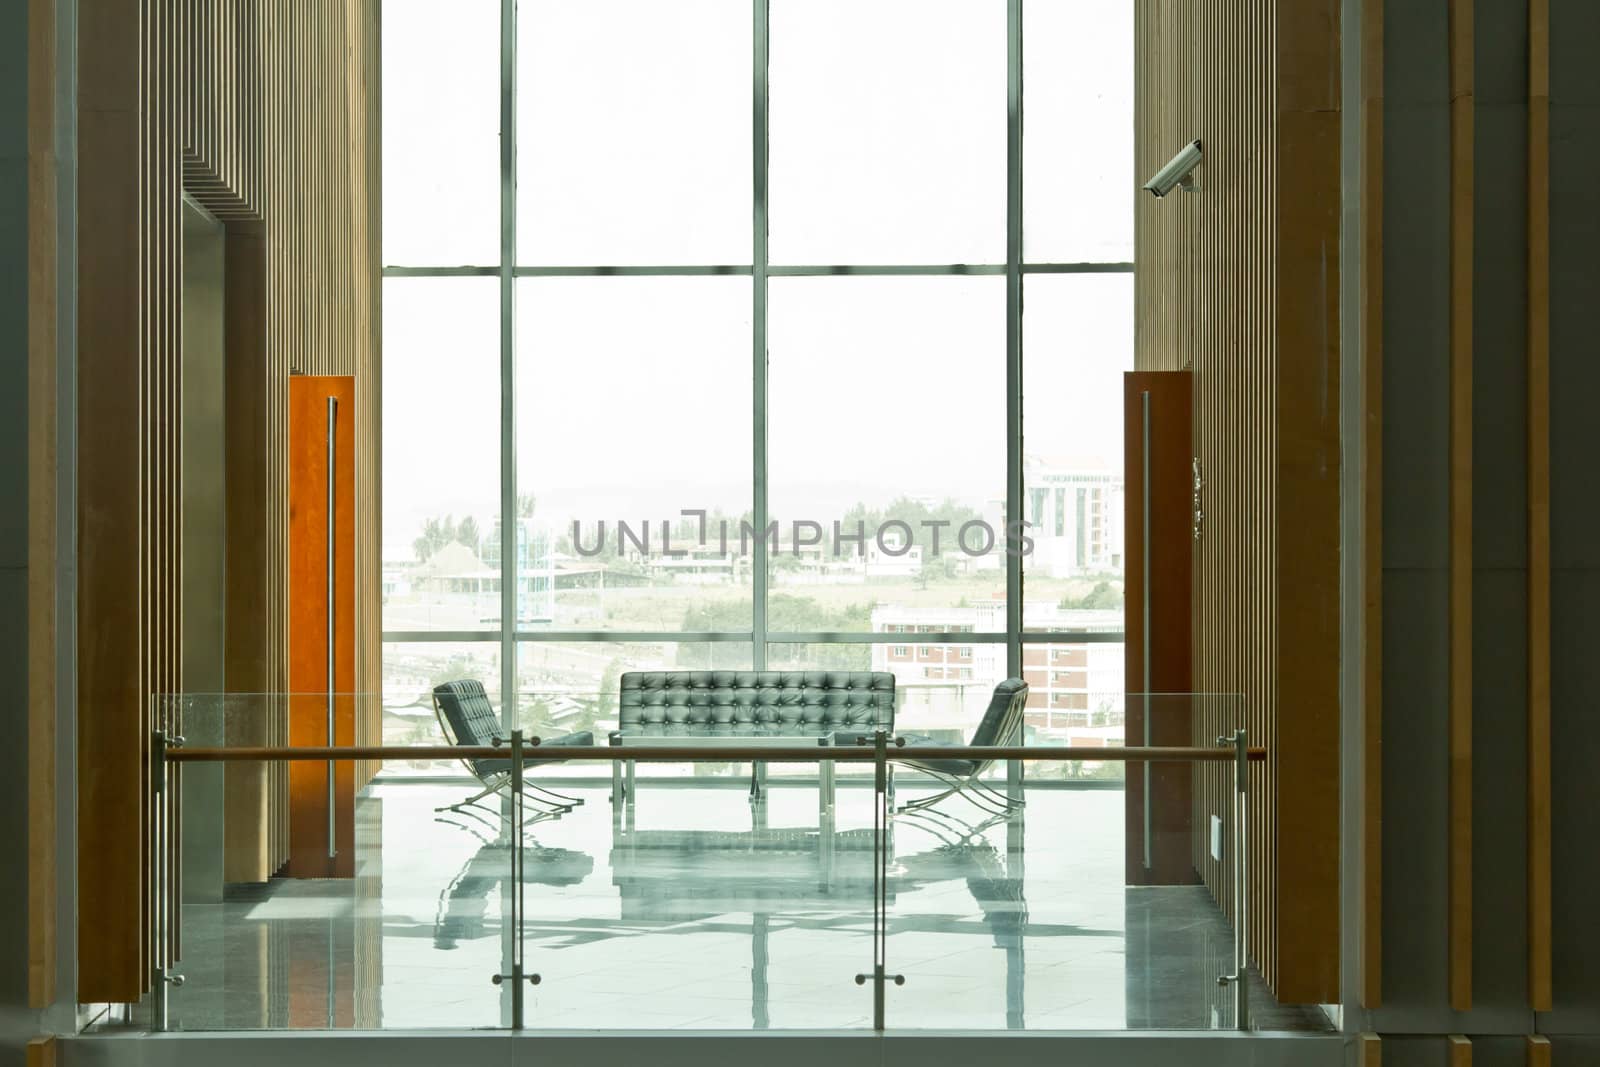
M 1384 974 L 1384 0 L 1362 10 L 1362 1005 Z

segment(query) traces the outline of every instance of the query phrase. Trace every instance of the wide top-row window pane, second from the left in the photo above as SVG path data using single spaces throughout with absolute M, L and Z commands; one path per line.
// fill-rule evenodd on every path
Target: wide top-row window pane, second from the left
M 749 0 L 523 0 L 517 258 L 750 262 Z

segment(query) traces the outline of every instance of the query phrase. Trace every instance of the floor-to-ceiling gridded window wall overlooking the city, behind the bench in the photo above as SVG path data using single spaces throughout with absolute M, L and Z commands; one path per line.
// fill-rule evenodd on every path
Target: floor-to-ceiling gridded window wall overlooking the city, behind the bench
M 384 702 L 1120 739 L 1131 0 L 386 0 Z M 1082 713 L 1080 713 L 1082 712 Z M 1115 737 L 1114 737 L 1115 734 Z

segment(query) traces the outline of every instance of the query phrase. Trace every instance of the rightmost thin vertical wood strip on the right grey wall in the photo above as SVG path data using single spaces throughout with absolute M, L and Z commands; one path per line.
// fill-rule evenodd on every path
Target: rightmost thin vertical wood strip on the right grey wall
M 1554 1008 L 1550 913 L 1549 0 L 1528 0 L 1528 998 L 1534 1011 Z M 1533 1062 L 1531 1057 L 1530 1062 Z

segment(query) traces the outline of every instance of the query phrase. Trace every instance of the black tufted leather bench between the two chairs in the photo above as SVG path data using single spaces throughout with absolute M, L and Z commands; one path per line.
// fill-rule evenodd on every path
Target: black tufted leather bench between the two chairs
M 621 678 L 611 744 L 829 744 L 835 734 L 853 744 L 877 729 L 894 733 L 894 675 L 885 670 L 630 670 Z M 752 797 L 762 793 L 763 769 L 755 765 Z M 832 763 L 821 773 L 830 785 Z M 624 795 L 619 774 L 614 768 L 613 800 Z M 627 777 L 632 795 L 632 763 Z

